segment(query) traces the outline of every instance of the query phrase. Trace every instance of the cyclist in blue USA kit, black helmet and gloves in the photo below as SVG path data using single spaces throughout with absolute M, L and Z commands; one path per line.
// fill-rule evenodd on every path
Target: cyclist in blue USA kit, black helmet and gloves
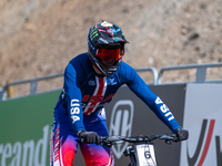
M 188 131 L 181 128 L 167 105 L 122 62 L 125 43 L 129 42 L 117 24 L 101 21 L 89 29 L 88 52 L 67 65 L 63 92 L 53 115 L 51 166 L 72 166 L 78 145 L 87 166 L 114 165 L 111 148 L 99 145 L 99 135 L 108 136 L 104 105 L 123 84 L 176 133 L 180 141 L 188 138 Z

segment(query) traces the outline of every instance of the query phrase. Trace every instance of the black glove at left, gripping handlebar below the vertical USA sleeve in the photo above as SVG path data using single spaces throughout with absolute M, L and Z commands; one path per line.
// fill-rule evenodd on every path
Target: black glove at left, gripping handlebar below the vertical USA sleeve
M 87 143 L 87 144 L 95 143 L 97 145 L 99 145 L 99 143 L 100 143 L 100 136 L 95 132 L 81 131 L 79 133 L 79 137 L 83 138 L 81 141 Z

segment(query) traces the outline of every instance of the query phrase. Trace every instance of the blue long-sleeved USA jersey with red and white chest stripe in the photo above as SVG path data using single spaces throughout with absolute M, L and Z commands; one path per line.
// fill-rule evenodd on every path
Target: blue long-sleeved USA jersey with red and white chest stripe
M 84 123 L 104 118 L 101 115 L 102 108 L 111 102 L 123 84 L 127 84 L 172 132 L 181 128 L 168 106 L 130 65 L 121 62 L 112 77 L 99 75 L 93 70 L 88 53 L 75 56 L 67 65 L 63 92 L 57 104 L 57 107 L 62 108 L 54 110 L 54 118 L 59 122 L 70 122 L 75 134 L 85 131 Z

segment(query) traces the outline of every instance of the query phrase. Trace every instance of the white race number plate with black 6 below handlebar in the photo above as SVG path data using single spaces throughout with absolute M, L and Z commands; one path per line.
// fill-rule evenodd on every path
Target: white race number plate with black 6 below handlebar
M 138 166 L 158 166 L 152 143 L 134 145 Z

